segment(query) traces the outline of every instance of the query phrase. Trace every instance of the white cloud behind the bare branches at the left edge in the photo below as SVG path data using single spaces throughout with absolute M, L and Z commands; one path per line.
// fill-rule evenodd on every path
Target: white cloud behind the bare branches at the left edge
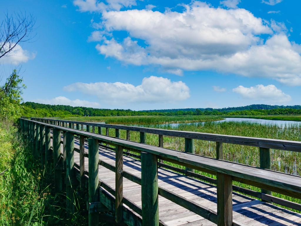
M 12 43 L 12 45 L 14 45 L 14 43 Z M 2 45 L 0 44 L 0 46 Z M 8 44 L 3 46 L 4 51 L 7 51 L 8 48 Z M 35 57 L 35 53 L 30 53 L 27 50 L 22 49 L 22 47 L 17 44 L 11 52 L 0 59 L 0 62 L 4 64 L 20 64 L 25 63 Z

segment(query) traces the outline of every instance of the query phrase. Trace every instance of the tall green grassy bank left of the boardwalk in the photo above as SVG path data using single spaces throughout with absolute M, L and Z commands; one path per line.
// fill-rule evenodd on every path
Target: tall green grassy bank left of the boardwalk
M 76 199 L 76 213 L 67 219 L 66 196 L 54 192 L 53 178 L 40 169 L 17 128 L 0 122 L 0 225 L 87 225 L 85 202 Z

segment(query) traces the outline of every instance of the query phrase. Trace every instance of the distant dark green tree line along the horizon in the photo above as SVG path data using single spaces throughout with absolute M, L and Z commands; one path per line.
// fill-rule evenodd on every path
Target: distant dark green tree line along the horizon
M 26 117 L 69 117 L 69 116 L 138 116 L 138 115 L 301 115 L 301 105 L 248 105 L 237 108 L 187 108 L 158 111 L 133 111 L 130 109 L 100 109 L 49 105 L 25 102 L 22 115 Z M 284 108 L 286 107 L 286 108 Z M 253 109 L 252 109 L 253 108 Z M 267 108 L 267 109 L 262 109 Z M 241 110 L 237 110 L 241 109 Z

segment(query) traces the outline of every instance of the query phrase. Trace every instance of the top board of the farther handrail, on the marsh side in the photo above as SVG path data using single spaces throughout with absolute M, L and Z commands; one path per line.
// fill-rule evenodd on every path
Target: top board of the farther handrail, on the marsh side
M 34 119 L 45 120 L 45 118 L 34 118 Z M 115 129 L 122 129 L 122 130 L 132 130 L 132 131 L 154 133 L 154 134 L 165 135 L 165 136 L 183 137 L 183 138 L 191 138 L 197 140 L 208 140 L 208 141 L 215 141 L 215 142 L 222 142 L 222 143 L 231 143 L 231 144 L 261 147 L 261 148 L 272 148 L 272 149 L 279 149 L 279 150 L 301 152 L 301 141 L 278 140 L 278 139 L 257 138 L 257 137 L 242 137 L 242 136 L 222 135 L 222 134 L 215 134 L 215 133 L 189 132 L 189 131 L 179 131 L 179 130 L 163 130 L 163 129 L 155 129 L 155 128 L 147 128 L 147 127 L 99 124 L 99 123 L 80 122 L 80 121 L 58 120 L 58 119 L 46 119 L 46 120 L 85 124 L 90 126 L 106 127 L 106 128 L 113 128 L 113 129 L 115 128 Z

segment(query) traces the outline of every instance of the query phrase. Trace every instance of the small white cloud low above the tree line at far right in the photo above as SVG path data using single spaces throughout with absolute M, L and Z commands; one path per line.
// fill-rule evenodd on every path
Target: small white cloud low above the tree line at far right
M 232 89 L 233 92 L 240 94 L 245 99 L 262 100 L 267 102 L 282 103 L 291 100 L 290 95 L 285 94 L 275 85 L 256 85 L 250 88 L 238 86 Z

